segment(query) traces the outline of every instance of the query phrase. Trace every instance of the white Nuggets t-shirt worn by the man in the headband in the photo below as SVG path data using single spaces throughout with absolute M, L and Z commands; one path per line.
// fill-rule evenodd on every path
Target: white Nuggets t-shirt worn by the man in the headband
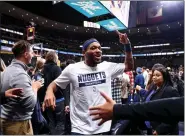
M 70 64 L 55 83 L 65 89 L 71 83 L 70 92 L 70 118 L 72 132 L 80 134 L 97 134 L 110 131 L 111 121 L 98 126 L 98 121 L 92 121 L 89 116 L 89 107 L 103 104 L 104 98 L 100 91 L 105 92 L 110 97 L 111 78 L 117 77 L 124 72 L 124 63 L 102 62 L 97 67 L 89 67 L 84 61 Z

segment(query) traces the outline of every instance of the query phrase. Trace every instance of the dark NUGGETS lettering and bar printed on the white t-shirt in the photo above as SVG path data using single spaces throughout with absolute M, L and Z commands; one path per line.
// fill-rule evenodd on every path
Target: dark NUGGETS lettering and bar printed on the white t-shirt
M 105 72 L 78 75 L 79 87 L 106 83 Z

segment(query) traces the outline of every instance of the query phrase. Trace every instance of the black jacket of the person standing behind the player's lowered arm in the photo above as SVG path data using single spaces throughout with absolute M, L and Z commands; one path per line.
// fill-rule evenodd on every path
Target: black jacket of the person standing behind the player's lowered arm
M 47 61 L 45 63 L 44 69 L 43 69 L 44 87 L 41 91 L 38 92 L 38 97 L 39 97 L 40 102 L 43 102 L 44 97 L 45 97 L 45 92 L 49 84 L 53 82 L 60 74 L 61 74 L 61 69 L 60 67 L 57 66 L 56 63 L 52 61 Z M 56 99 L 58 98 L 60 99 L 61 97 L 63 97 L 62 92 L 57 91 L 55 93 L 55 97 Z

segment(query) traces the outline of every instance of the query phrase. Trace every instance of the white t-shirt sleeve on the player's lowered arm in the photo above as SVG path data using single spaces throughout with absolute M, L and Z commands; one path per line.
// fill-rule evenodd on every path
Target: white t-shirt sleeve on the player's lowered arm
M 70 83 L 70 65 L 68 65 L 60 74 L 60 76 L 54 80 L 57 86 L 61 89 L 65 89 L 66 86 Z

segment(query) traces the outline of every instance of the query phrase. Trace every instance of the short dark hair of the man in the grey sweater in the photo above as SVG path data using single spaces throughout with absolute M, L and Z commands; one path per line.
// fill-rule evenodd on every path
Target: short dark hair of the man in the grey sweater
M 12 48 L 12 52 L 15 57 L 19 57 L 24 54 L 26 51 L 29 51 L 31 44 L 25 40 L 20 40 L 16 42 Z

